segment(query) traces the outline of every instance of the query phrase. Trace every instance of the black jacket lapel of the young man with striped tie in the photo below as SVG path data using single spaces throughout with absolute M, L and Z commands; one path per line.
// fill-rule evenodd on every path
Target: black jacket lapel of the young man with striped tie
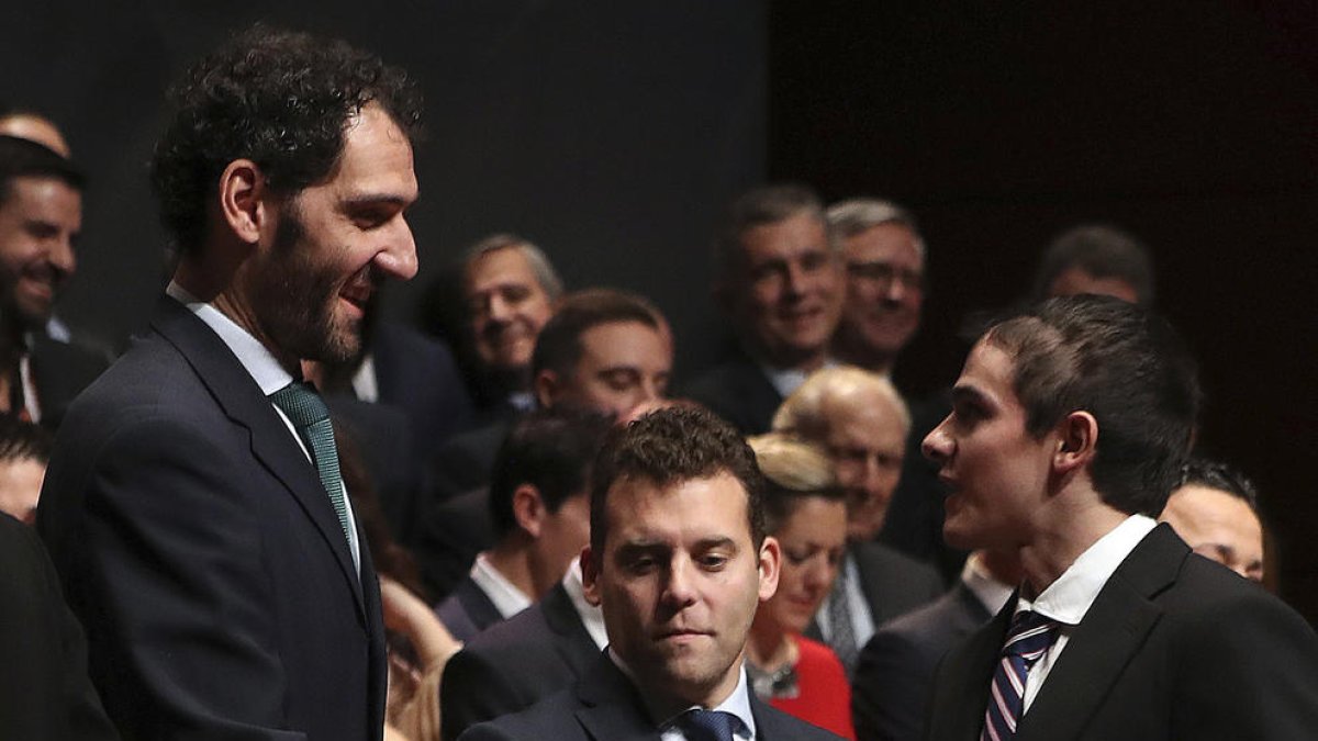
M 1161 618 L 1162 609 L 1151 597 L 1176 580 L 1188 554 L 1185 543 L 1160 525 L 1126 556 L 1048 672 L 1017 741 L 1079 736 Z

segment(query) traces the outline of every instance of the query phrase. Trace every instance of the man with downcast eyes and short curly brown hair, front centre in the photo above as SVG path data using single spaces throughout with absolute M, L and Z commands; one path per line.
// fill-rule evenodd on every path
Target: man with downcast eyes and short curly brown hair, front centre
M 596 459 L 581 552 L 609 649 L 575 687 L 463 738 L 834 738 L 755 700 L 742 666 L 782 558 L 762 489 L 750 447 L 708 411 L 618 429 Z

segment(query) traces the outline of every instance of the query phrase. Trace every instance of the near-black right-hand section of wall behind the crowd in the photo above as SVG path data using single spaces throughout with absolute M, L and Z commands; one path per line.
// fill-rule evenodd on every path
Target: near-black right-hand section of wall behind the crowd
M 932 287 L 898 381 L 956 377 L 1056 233 L 1155 251 L 1202 364 L 1202 447 L 1260 485 L 1282 595 L 1318 618 L 1318 7 L 1230 0 L 778 3 L 770 175 L 921 219 Z

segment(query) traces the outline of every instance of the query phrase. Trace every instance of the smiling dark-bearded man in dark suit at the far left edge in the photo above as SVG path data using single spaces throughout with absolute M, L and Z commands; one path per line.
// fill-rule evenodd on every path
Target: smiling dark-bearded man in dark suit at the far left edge
M 0 136 L 0 410 L 47 430 L 108 365 L 53 319 L 78 268 L 82 189 L 70 161 Z

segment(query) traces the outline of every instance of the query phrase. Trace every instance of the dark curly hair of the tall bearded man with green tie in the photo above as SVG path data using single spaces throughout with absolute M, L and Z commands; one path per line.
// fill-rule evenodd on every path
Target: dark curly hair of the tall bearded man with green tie
M 403 70 L 344 41 L 260 24 L 194 65 L 170 98 L 152 186 L 181 252 L 200 245 L 207 200 L 235 160 L 252 160 L 272 191 L 291 195 L 330 174 L 368 103 L 410 140 L 420 133 L 420 92 Z

